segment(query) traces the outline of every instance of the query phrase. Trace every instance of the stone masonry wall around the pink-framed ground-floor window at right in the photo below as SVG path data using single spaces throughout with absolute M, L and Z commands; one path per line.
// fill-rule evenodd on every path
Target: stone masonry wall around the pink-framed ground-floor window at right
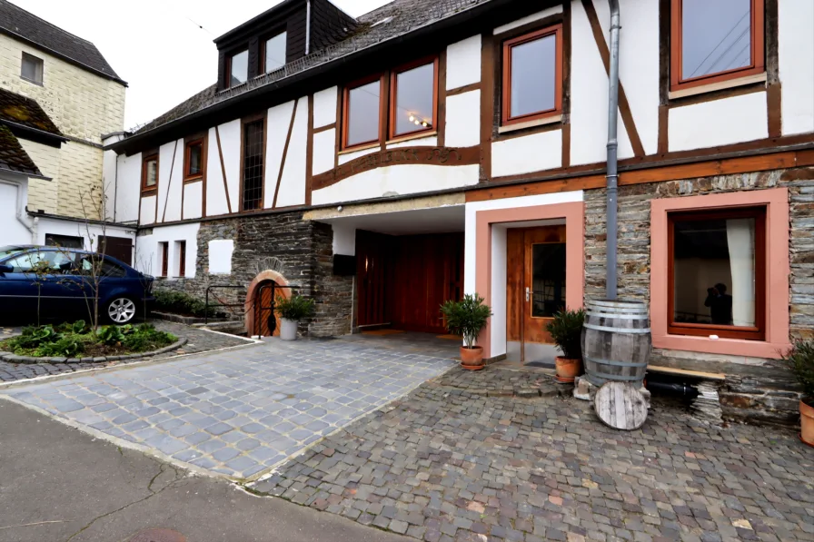
M 650 200 L 775 187 L 789 189 L 791 338 L 814 338 L 814 168 L 620 186 L 620 299 L 650 301 Z M 604 189 L 585 192 L 586 299 L 604 296 L 605 197 Z M 650 360 L 656 365 L 726 373 L 720 389 L 726 417 L 787 423 L 799 416 L 798 390 L 777 360 L 738 360 L 658 349 Z

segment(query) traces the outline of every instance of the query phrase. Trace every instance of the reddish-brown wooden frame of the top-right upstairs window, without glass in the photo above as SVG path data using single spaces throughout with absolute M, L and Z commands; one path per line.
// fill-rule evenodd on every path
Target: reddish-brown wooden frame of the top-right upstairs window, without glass
M 766 72 L 766 6 L 765 0 L 751 2 L 751 61 L 749 66 L 734 68 L 715 74 L 684 79 L 682 8 L 683 0 L 670 0 L 670 92 L 680 91 L 702 84 L 714 84 L 730 79 Z

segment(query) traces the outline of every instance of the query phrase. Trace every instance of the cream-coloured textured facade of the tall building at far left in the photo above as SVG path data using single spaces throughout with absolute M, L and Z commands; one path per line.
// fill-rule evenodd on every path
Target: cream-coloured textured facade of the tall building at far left
M 42 85 L 20 77 L 24 51 L 43 59 Z M 79 194 L 91 197 L 91 190 L 102 185 L 102 135 L 124 127 L 124 85 L 0 34 L 0 87 L 36 100 L 59 130 L 72 138 L 61 149 L 23 142 L 41 171 L 53 178 L 31 179 L 29 210 L 102 218 L 89 201 L 83 212 Z M 34 153 L 29 149 L 33 146 L 37 147 Z M 99 201 L 99 189 L 93 197 Z

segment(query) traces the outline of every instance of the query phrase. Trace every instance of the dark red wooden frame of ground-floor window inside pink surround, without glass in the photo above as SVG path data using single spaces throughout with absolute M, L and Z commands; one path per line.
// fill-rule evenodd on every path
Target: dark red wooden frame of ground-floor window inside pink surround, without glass
M 709 337 L 722 339 L 766 340 L 766 282 L 767 209 L 765 206 L 736 209 L 681 211 L 667 213 L 667 332 L 670 335 Z M 723 326 L 717 324 L 694 324 L 675 321 L 675 222 L 755 219 L 755 326 Z

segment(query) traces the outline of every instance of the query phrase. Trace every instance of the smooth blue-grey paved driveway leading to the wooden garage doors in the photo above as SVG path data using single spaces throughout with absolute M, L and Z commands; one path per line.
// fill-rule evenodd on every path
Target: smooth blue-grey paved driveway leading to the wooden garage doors
M 5 394 L 177 462 L 249 478 L 452 365 L 363 342 L 272 340 Z

